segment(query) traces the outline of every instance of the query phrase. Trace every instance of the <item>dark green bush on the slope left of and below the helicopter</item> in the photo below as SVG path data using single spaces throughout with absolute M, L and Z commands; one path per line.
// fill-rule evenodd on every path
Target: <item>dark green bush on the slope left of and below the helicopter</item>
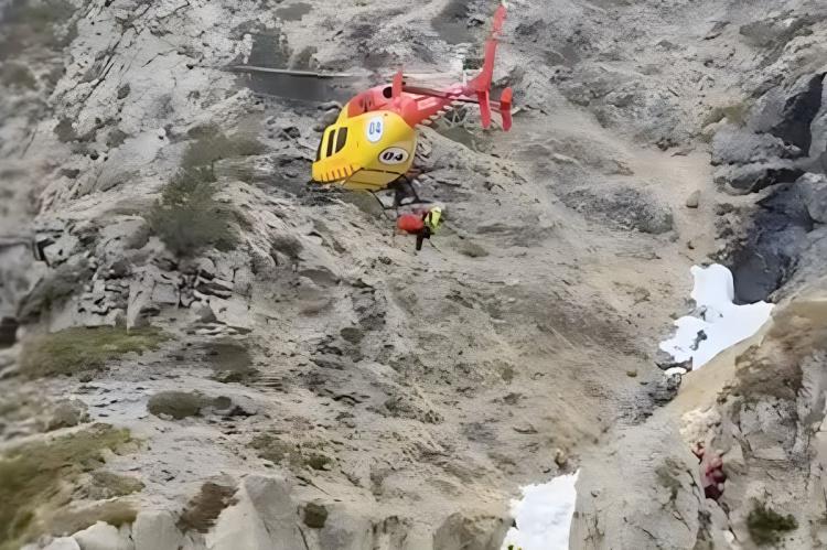
M 211 168 L 189 168 L 163 188 L 147 220 L 179 257 L 192 257 L 208 247 L 233 250 L 238 245 L 238 215 L 215 199 L 218 187 Z

